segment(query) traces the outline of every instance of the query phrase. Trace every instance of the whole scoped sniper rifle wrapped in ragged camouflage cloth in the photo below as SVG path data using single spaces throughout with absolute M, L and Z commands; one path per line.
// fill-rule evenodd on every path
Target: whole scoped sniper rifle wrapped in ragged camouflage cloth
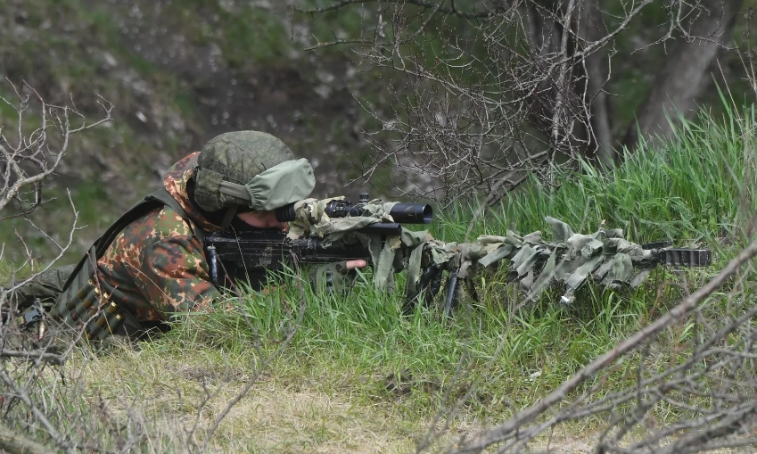
M 520 284 L 527 300 L 562 283 L 564 303 L 573 301 L 573 293 L 589 277 L 613 289 L 634 288 L 658 265 L 712 263 L 709 249 L 672 248 L 670 242 L 634 244 L 623 239 L 620 229 L 604 226 L 593 235 L 574 234 L 569 225 L 549 217 L 551 241 L 542 239 L 540 231 L 520 236 L 508 230 L 504 236 L 481 235 L 473 243 L 445 243 L 400 225 L 431 223 L 431 206 L 369 201 L 366 193 L 355 205 L 341 197 L 295 202 L 276 210 L 276 218 L 291 222 L 289 233 L 226 230 L 206 238 L 206 257 L 216 285 L 232 288 L 235 279 L 243 279 L 259 289 L 268 270 L 283 270 L 293 260 L 301 264 L 366 260 L 374 268 L 374 285 L 381 289 L 393 288 L 393 273 L 407 271 L 407 302 L 424 294 L 424 303 L 431 304 L 446 277 L 442 307 L 450 316 L 465 298 L 461 283 L 477 300 L 474 277 L 503 263 L 508 278 Z

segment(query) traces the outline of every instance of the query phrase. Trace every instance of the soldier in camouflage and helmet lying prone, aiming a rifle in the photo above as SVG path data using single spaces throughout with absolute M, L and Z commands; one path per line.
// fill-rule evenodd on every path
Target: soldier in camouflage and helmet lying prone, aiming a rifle
M 53 315 L 70 324 L 89 318 L 92 339 L 165 331 L 173 314 L 208 310 L 219 294 L 204 236 L 235 225 L 285 229 L 273 210 L 307 198 L 315 177 L 309 162 L 296 160 L 275 136 L 239 131 L 178 161 L 163 186 L 116 221 L 77 266 L 45 273 L 14 301 L 54 301 Z M 363 268 L 366 261 L 344 265 Z M 99 323 L 92 318 L 98 306 Z

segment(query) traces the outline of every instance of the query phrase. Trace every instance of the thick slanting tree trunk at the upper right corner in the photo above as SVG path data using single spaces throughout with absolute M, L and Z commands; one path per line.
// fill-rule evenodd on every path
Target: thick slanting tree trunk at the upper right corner
M 670 137 L 673 130 L 668 118 L 675 121 L 677 112 L 686 119 L 695 115 L 696 99 L 712 81 L 710 65 L 722 46 L 730 44 L 736 13 L 742 3 L 743 0 L 702 0 L 699 4 L 702 11 L 689 29 L 689 35 L 698 38 L 691 42 L 680 38 L 623 144 L 632 148 L 638 144 L 639 136 Z

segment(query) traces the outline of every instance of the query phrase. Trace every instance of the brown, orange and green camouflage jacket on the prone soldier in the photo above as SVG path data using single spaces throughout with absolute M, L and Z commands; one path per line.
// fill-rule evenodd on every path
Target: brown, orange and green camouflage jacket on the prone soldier
M 173 312 L 207 309 L 218 295 L 202 242 L 193 232 L 197 227 L 206 232 L 220 227 L 203 218 L 186 194 L 198 154 L 174 164 L 163 181 L 190 221 L 169 207 L 152 210 L 124 228 L 97 260 L 103 291 L 139 321 L 169 320 Z

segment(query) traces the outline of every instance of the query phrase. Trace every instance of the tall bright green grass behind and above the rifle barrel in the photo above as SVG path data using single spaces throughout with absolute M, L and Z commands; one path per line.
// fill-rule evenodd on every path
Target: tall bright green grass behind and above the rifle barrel
M 580 175 L 557 172 L 556 188 L 535 181 L 505 199 L 476 232 L 544 229 L 546 216 L 574 230 L 621 227 L 638 243 L 712 244 L 743 235 L 755 207 L 753 108 L 684 122 L 670 142 L 643 143 L 621 166 Z

